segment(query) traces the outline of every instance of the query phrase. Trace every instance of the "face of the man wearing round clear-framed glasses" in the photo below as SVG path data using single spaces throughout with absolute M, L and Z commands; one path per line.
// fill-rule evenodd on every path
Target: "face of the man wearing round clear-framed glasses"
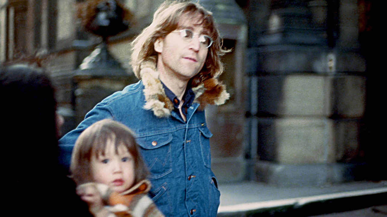
M 199 17 L 199 18 L 198 18 Z M 157 70 L 168 76 L 188 81 L 204 66 L 208 49 L 199 41 L 201 35 L 209 35 L 207 29 L 200 24 L 200 16 L 183 14 L 180 17 L 176 31 L 156 40 L 154 49 L 159 53 Z M 188 29 L 195 35 L 187 42 L 177 30 Z M 198 35 L 196 35 L 198 34 Z

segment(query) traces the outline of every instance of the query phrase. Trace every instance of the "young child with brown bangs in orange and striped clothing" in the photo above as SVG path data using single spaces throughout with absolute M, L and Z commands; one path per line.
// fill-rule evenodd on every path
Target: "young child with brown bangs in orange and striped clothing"
M 70 172 L 96 217 L 164 217 L 146 194 L 149 172 L 133 132 L 121 123 L 104 119 L 84 130 L 75 142 Z

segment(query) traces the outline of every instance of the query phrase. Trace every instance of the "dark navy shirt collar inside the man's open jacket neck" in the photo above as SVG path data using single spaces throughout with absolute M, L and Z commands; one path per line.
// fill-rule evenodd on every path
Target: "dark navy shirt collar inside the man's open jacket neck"
M 177 98 L 177 96 L 167 87 L 163 82 L 164 92 L 166 96 L 171 100 L 173 103 L 174 111 L 179 114 L 180 117 L 180 111 L 179 111 L 179 105 L 180 105 L 180 100 Z M 187 109 L 190 108 L 192 105 L 192 102 L 194 102 L 195 99 L 195 93 L 192 91 L 191 85 L 188 84 L 187 88 L 185 88 L 185 93 L 183 95 L 183 106 L 182 106 L 182 113 L 184 116 L 187 116 Z

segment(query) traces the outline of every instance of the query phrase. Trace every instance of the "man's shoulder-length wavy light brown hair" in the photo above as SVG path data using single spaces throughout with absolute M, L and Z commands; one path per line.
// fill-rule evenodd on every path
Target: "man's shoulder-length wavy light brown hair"
M 140 79 L 140 66 L 146 61 L 154 62 L 156 65 L 158 52 L 154 50 L 154 42 L 164 38 L 178 27 L 178 22 L 183 14 L 198 17 L 204 29 L 214 40 L 207 54 L 203 68 L 190 81 L 192 87 L 197 87 L 203 81 L 217 78 L 223 72 L 223 63 L 220 56 L 228 50 L 222 48 L 222 40 L 219 31 L 212 18 L 212 13 L 205 10 L 198 3 L 167 0 L 160 5 L 153 16 L 151 25 L 146 27 L 140 35 L 132 42 L 131 64 L 134 74 Z

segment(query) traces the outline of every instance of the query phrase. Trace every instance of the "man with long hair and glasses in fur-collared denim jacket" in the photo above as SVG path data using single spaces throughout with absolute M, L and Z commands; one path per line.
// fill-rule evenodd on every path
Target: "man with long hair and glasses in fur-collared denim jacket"
M 98 120 L 119 121 L 136 134 L 151 173 L 149 196 L 164 215 L 215 217 L 220 192 L 204 107 L 229 98 L 217 80 L 225 52 L 211 12 L 198 3 L 164 2 L 132 42 L 140 81 L 97 104 L 60 143 L 73 145 Z

